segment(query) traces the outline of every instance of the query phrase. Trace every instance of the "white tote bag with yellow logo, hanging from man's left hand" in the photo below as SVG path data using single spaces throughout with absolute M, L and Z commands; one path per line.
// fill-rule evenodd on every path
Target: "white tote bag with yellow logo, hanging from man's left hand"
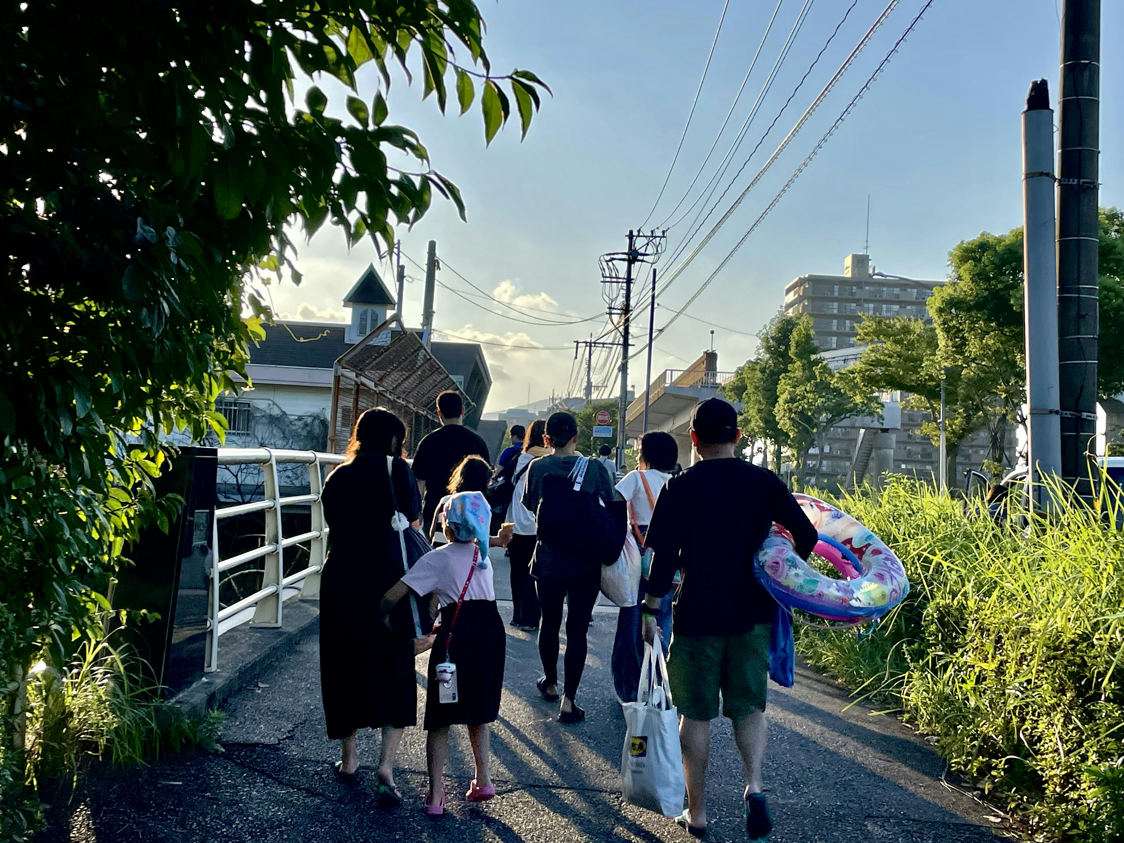
M 644 645 L 644 664 L 635 703 L 623 703 L 625 745 L 620 790 L 625 801 L 665 817 L 683 810 L 687 786 L 679 749 L 679 713 L 667 685 L 668 665 L 660 638 Z

